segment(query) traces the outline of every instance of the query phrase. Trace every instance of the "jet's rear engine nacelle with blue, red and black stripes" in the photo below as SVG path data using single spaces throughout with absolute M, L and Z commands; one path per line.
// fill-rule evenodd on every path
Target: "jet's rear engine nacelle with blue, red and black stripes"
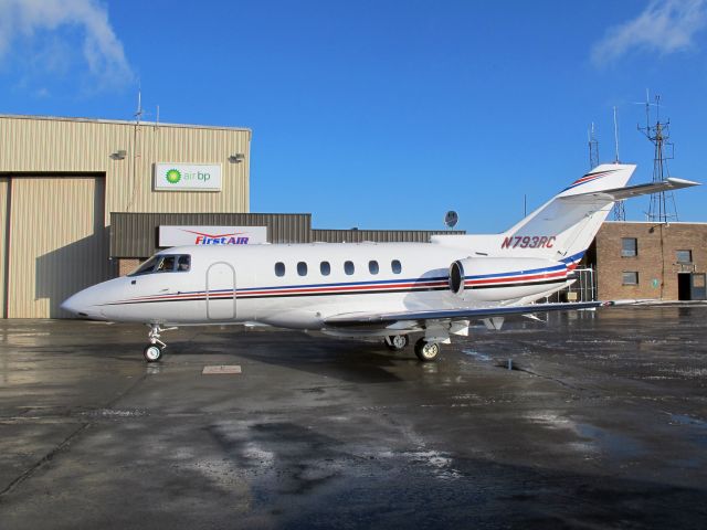
M 464 300 L 505 300 L 558 290 L 567 264 L 540 257 L 467 257 L 450 266 L 450 290 Z

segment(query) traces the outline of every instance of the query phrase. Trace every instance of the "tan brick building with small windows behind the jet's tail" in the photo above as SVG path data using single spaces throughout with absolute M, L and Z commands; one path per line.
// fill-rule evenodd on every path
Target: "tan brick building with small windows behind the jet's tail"
M 605 222 L 587 258 L 599 299 L 707 299 L 707 223 Z

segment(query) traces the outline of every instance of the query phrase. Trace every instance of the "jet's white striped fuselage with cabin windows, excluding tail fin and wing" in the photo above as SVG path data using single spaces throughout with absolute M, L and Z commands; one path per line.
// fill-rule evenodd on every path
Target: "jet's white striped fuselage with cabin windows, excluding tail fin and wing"
M 112 321 L 323 329 L 333 315 L 527 303 L 568 285 L 579 259 L 469 258 L 468 251 L 437 243 L 209 245 L 160 255 L 189 256 L 189 269 L 170 265 L 170 272 L 115 278 L 63 307 Z M 450 288 L 450 265 L 458 259 L 465 261 L 463 293 Z

